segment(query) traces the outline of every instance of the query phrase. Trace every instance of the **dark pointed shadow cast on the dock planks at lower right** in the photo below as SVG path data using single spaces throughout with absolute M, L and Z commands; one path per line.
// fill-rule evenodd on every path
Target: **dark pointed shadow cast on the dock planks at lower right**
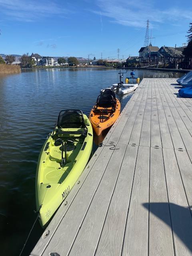
M 189 208 L 172 203 L 168 204 L 166 202 L 144 203 L 143 206 L 170 226 L 174 234 L 176 234 L 192 252 L 192 216 Z M 171 220 L 170 216 L 167 214 L 169 206 Z

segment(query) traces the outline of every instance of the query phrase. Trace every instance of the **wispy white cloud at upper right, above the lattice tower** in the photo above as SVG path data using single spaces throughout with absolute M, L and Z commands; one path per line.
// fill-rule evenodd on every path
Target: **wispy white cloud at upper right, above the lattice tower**
M 153 24 L 163 22 L 177 22 L 182 19 L 191 19 L 192 10 L 172 8 L 159 10 L 154 8 L 151 0 L 96 0 L 98 11 L 92 10 L 95 14 L 110 18 L 111 22 L 124 26 L 146 27 L 146 20 Z

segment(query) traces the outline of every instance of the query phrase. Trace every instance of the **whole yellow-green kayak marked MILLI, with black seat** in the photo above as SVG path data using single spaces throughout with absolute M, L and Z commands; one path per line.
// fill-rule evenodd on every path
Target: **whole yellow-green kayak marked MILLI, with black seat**
M 36 172 L 36 208 L 45 226 L 83 172 L 92 152 L 93 130 L 81 110 L 62 110 L 42 147 Z

